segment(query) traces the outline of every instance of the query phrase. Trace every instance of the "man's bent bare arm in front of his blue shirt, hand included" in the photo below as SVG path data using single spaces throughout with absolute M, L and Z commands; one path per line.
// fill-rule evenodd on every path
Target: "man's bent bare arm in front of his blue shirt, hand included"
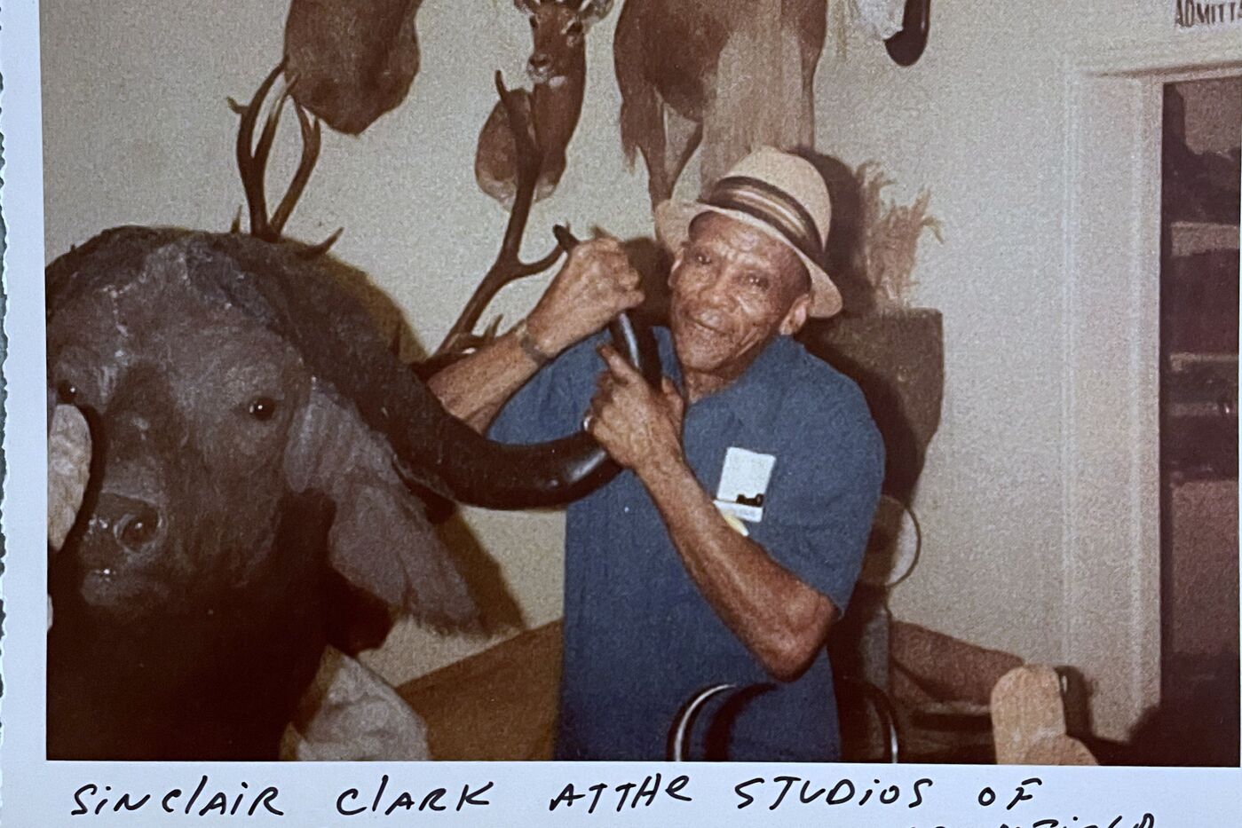
M 684 402 L 672 384 L 666 379 L 655 391 L 615 351 L 601 353 L 610 371 L 601 376 L 592 402 L 591 433 L 643 482 L 682 562 L 717 614 L 769 674 L 796 679 L 823 647 L 843 607 L 729 526 L 686 462 Z M 878 493 L 878 479 L 874 488 Z M 853 578 L 847 580 L 852 586 Z M 847 597 L 846 591 L 838 601 Z

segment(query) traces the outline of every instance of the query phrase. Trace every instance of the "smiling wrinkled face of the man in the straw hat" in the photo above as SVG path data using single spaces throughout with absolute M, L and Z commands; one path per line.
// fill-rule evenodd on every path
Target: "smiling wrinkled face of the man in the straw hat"
M 682 369 L 732 382 L 777 334 L 796 333 L 810 308 L 801 259 L 768 233 L 714 212 L 699 215 L 669 274 L 669 328 Z

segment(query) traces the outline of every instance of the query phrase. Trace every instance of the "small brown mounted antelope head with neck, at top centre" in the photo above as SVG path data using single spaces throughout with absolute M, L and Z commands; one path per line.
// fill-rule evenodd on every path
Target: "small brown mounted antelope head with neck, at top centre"
M 534 48 L 527 61 L 533 91 L 518 89 L 539 150 L 535 201 L 551 195 L 565 171 L 565 148 L 574 137 L 586 88 L 586 31 L 612 9 L 612 0 L 513 0 L 530 19 Z M 478 137 L 474 178 L 483 192 L 513 209 L 517 160 L 504 107 L 492 108 Z

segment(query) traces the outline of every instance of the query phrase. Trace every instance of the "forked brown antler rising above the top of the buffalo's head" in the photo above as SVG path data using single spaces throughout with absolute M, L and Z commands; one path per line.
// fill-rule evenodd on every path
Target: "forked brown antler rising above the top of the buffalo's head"
M 293 179 L 289 181 L 288 190 L 286 190 L 279 205 L 277 205 L 276 212 L 270 217 L 267 214 L 267 196 L 265 195 L 263 179 L 267 174 L 267 159 L 272 151 L 272 142 L 276 139 L 276 128 L 281 119 L 281 112 L 284 109 L 284 102 L 289 99 L 292 78 L 286 78 L 286 83 L 282 84 L 281 96 L 267 114 L 263 130 L 258 135 L 258 144 L 255 144 L 255 124 L 258 122 L 258 113 L 263 107 L 263 101 L 267 98 L 268 92 L 271 92 L 272 84 L 276 83 L 276 78 L 283 71 L 284 61 L 282 60 L 263 78 L 263 82 L 255 92 L 255 97 L 245 107 L 229 98 L 229 107 L 241 115 L 241 123 L 237 127 L 237 171 L 241 174 L 242 189 L 246 191 L 246 205 L 250 209 L 250 232 L 252 236 L 270 242 L 281 240 L 284 223 L 289 220 L 289 215 L 293 212 L 298 199 L 302 197 L 302 191 L 306 189 L 315 161 L 319 159 L 322 138 L 319 119 L 315 118 L 312 120 L 307 115 L 306 109 L 302 108 L 302 104 L 294 101 L 293 112 L 298 117 L 298 128 L 302 132 L 302 158 L 298 161 L 298 169 L 293 174 Z M 238 225 L 240 221 L 235 220 L 233 227 L 237 228 Z M 327 240 L 310 248 L 310 251 L 313 253 L 323 253 L 339 237 L 340 230 L 337 230 Z

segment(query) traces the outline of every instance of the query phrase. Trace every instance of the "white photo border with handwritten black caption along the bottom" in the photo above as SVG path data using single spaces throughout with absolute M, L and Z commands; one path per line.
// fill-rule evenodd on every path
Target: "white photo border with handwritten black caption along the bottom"
M 345 826 L 356 822 L 385 822 L 383 811 L 409 791 L 415 801 L 436 788 L 445 788 L 447 811 L 422 813 L 397 809 L 392 824 L 426 819 L 452 826 L 545 826 L 581 824 L 592 791 L 590 786 L 641 783 L 645 777 L 661 775 L 667 788 L 679 775 L 689 777 L 681 793 L 692 802 L 660 793 L 652 804 L 633 807 L 630 802 L 617 811 L 619 792 L 610 787 L 591 816 L 596 824 L 784 824 L 784 826 L 869 826 L 873 828 L 1038 827 L 1041 819 L 1056 819 L 1059 826 L 1238 826 L 1242 824 L 1242 785 L 1238 768 L 1043 768 L 986 766 L 851 766 L 851 765 L 714 765 L 674 766 L 666 763 L 91 763 L 48 762 L 45 758 L 45 647 L 46 647 L 46 380 L 43 343 L 43 215 L 41 169 L 41 113 L 39 61 L 39 6 L 35 0 L 10 0 L 0 10 L 0 71 L 4 93 L 0 99 L 0 129 L 5 142 L 2 207 L 7 227 L 4 284 L 7 313 L 4 330 L 7 358 L 4 379 L 5 461 L 4 539 L 6 556 L 2 576 L 5 606 L 2 669 L 2 788 L 0 821 L 10 826 L 133 826 L 178 824 L 199 818 L 209 796 L 219 790 L 229 797 L 240 792 L 245 802 L 236 813 L 243 817 L 263 788 L 273 786 L 278 794 L 270 802 L 283 817 L 258 807 L 252 823 L 284 822 L 298 826 Z M 40 542 L 42 541 L 42 542 Z M 201 798 L 185 813 L 190 793 L 206 776 Z M 848 802 L 826 806 L 823 797 L 815 803 L 797 802 L 801 782 L 775 808 L 769 806 L 784 781 L 795 776 L 816 787 L 835 787 L 851 780 L 856 788 Z M 765 780 L 745 786 L 746 781 Z M 376 788 L 388 778 L 379 811 L 369 808 L 344 816 L 344 804 L 370 804 Z M 918 780 L 932 780 L 917 786 Z M 1031 780 L 1040 780 L 1038 783 Z M 873 782 L 873 780 L 876 782 Z M 456 811 L 463 786 L 477 792 L 487 806 L 466 806 Z M 247 787 L 242 787 L 242 785 Z M 573 783 L 587 798 L 573 806 L 550 804 Z M 93 790 L 83 786 L 94 785 Z M 741 791 L 754 794 L 746 806 Z M 879 792 L 888 786 L 899 788 L 893 804 L 882 804 Z M 349 797 L 351 788 L 356 797 Z M 662 790 L 663 790 L 662 788 Z M 876 797 L 859 806 L 863 791 L 876 790 Z M 992 793 L 991 804 L 981 804 L 984 788 Z M 1018 788 L 1031 799 L 1005 806 Z M 173 797 L 171 812 L 160 804 L 166 792 Z M 79 792 L 77 793 L 76 792 Z M 843 796 L 845 788 L 840 788 Z M 122 792 L 134 798 L 153 793 L 153 799 L 138 811 L 116 813 L 112 804 Z M 922 803 L 910 808 L 914 796 Z M 631 802 L 633 790 L 630 791 Z M 104 798 L 104 809 L 84 819 L 75 816 L 82 798 L 92 809 Z M 643 801 L 643 803 L 646 799 Z M 207 812 L 220 818 L 215 811 Z M 1145 814 L 1154 819 L 1144 821 Z M 1115 818 L 1119 818 L 1114 821 Z M 1052 823 L 1045 822 L 1045 826 Z

